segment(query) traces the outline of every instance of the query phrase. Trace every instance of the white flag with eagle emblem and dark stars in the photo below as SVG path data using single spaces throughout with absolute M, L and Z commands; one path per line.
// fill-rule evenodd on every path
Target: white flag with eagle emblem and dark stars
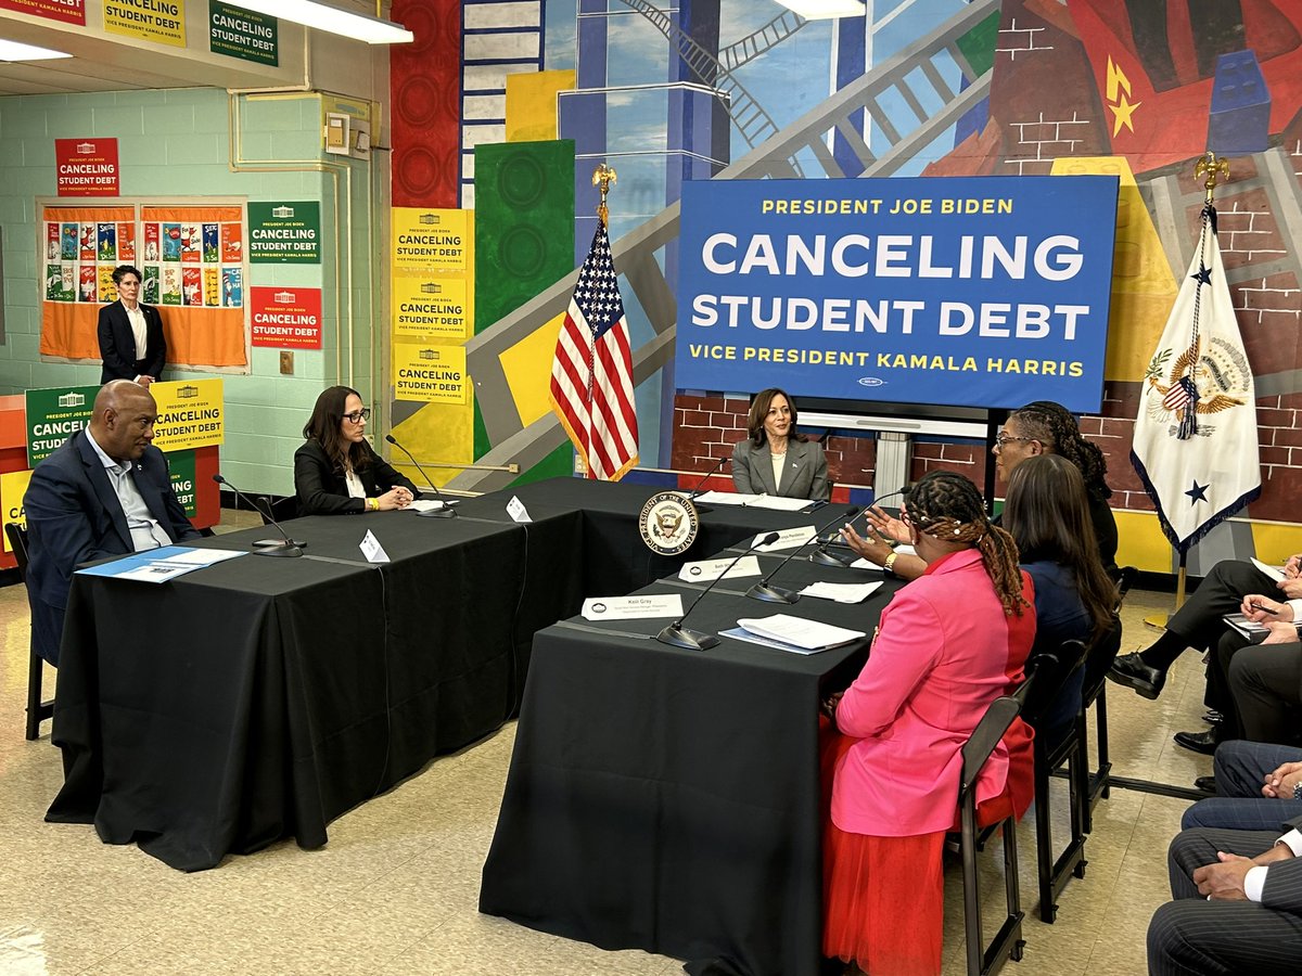
M 1144 372 L 1130 461 L 1180 553 L 1262 492 L 1256 394 L 1211 204 Z

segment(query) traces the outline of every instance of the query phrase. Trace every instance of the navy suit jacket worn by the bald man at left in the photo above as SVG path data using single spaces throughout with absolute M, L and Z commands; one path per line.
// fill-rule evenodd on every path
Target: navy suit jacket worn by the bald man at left
M 132 479 L 173 543 L 199 537 L 172 491 L 163 452 L 146 448 L 132 467 Z M 82 562 L 134 552 L 132 532 L 85 431 L 36 465 L 22 505 L 30 543 L 31 643 L 38 655 L 57 665 L 73 570 Z

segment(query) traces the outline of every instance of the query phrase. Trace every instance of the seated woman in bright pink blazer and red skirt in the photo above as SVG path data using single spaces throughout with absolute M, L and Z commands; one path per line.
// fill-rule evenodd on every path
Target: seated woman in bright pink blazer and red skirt
M 833 743 L 824 845 L 824 953 L 850 972 L 939 973 L 941 850 L 961 750 L 987 707 L 1022 681 L 1034 590 L 1017 545 L 961 475 L 934 471 L 904 509 L 926 573 L 881 613 L 868 662 L 828 703 Z M 1027 755 L 1029 757 L 1029 755 Z M 1005 786 L 1003 746 L 978 803 Z

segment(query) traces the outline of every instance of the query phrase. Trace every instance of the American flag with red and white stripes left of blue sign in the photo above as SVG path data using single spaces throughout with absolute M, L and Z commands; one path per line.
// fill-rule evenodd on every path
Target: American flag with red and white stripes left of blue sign
M 598 221 L 552 362 L 552 410 L 587 476 L 605 481 L 620 480 L 638 463 L 633 349 L 616 277 L 611 238 Z

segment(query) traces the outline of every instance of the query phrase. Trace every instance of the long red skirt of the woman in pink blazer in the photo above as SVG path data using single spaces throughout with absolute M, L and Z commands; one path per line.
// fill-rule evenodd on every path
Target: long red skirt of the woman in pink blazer
M 868 837 L 832 822 L 832 776 L 854 739 L 820 718 L 823 734 L 823 955 L 867 973 L 940 972 L 945 832 Z

